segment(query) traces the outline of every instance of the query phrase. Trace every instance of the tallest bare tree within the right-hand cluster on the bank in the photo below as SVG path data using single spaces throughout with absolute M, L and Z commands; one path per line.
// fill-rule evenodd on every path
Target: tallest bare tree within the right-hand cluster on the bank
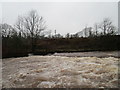
M 105 18 L 99 28 L 103 31 L 103 35 L 115 34 L 115 26 L 112 25 L 112 21 L 109 18 Z

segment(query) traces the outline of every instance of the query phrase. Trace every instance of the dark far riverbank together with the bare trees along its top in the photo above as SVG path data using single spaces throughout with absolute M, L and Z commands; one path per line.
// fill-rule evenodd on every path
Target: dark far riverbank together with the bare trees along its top
M 102 21 L 102 20 L 101 20 Z M 75 34 L 51 35 L 45 20 L 32 10 L 18 17 L 15 25 L 0 24 L 2 57 L 27 56 L 29 53 L 45 55 L 55 52 L 114 51 L 120 50 L 118 29 L 109 18 L 94 27 L 85 27 Z

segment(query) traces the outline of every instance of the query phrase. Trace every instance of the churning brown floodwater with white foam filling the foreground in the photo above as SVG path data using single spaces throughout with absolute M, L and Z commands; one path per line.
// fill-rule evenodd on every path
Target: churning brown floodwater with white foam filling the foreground
M 29 56 L 3 59 L 3 88 L 116 88 L 118 58 Z

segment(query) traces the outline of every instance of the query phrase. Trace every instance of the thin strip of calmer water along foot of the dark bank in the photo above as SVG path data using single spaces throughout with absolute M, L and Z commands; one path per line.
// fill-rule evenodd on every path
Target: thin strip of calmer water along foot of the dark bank
M 120 51 L 89 51 L 89 52 L 41 52 L 41 53 L 25 53 L 25 54 L 15 54 L 7 55 L 2 58 L 17 58 L 26 57 L 31 55 L 54 55 L 54 56 L 67 56 L 67 57 L 117 57 L 120 58 Z

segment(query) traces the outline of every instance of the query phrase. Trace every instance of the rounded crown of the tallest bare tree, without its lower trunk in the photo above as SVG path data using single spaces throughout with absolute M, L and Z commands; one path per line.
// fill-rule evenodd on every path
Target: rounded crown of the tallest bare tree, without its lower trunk
M 31 37 L 37 37 L 46 29 L 43 17 L 39 16 L 35 10 L 30 11 L 28 17 L 25 17 L 25 28 L 29 30 Z

